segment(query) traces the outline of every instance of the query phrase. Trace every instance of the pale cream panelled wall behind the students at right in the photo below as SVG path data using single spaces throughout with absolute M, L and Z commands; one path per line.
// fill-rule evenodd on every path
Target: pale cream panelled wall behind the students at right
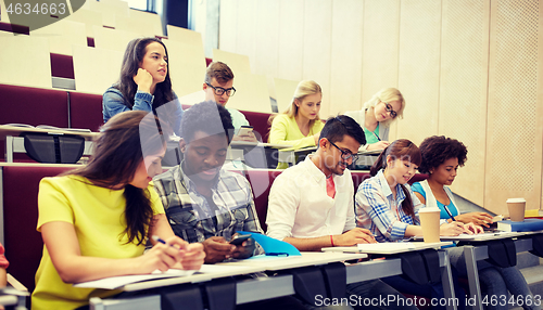
M 496 212 L 543 201 L 542 4 L 538 0 L 222 0 L 219 49 L 253 74 L 314 79 L 321 118 L 384 87 L 406 99 L 391 140 L 463 141 L 453 190 Z M 541 57 L 540 57 L 541 59 Z

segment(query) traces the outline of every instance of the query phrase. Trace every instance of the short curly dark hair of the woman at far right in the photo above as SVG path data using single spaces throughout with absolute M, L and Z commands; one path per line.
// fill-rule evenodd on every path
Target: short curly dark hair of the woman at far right
M 419 148 L 422 153 L 422 163 L 418 170 L 421 173 L 430 173 L 432 168 L 438 168 L 450 158 L 458 158 L 458 165 L 462 167 L 466 163 L 468 154 L 464 143 L 444 135 L 426 138 Z

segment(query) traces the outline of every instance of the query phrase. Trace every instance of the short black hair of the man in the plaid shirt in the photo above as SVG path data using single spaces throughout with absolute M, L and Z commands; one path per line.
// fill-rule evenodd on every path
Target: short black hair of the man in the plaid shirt
M 181 138 L 190 143 L 197 131 L 209 134 L 224 133 L 228 144 L 233 135 L 232 118 L 228 109 L 214 101 L 204 101 L 185 111 L 181 118 Z

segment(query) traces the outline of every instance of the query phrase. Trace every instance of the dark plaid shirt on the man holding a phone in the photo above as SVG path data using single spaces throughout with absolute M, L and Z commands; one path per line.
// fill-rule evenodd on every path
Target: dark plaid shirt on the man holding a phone
M 212 199 L 218 209 L 213 211 L 207 199 L 182 172 L 184 163 L 153 180 L 176 235 L 195 243 L 212 236 L 229 241 L 236 231 L 263 233 L 251 185 L 243 176 L 220 170 L 212 186 Z

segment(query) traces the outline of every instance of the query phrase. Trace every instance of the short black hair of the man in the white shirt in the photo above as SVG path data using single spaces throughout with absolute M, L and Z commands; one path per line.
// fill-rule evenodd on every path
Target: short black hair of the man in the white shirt
M 366 144 L 366 137 L 361 125 L 346 115 L 328 118 L 318 140 L 326 138 L 328 141 L 334 143 L 342 141 L 345 134 L 352 137 L 361 144 Z

